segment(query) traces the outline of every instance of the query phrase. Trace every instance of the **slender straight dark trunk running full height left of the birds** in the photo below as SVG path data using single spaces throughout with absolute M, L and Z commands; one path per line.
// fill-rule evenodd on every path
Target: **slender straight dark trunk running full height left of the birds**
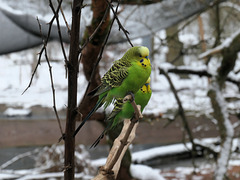
M 68 67 L 68 107 L 65 129 L 65 171 L 64 179 L 74 179 L 74 150 L 75 138 L 75 119 L 77 115 L 77 75 L 78 75 L 78 56 L 79 56 L 79 28 L 80 28 L 80 12 L 82 0 L 74 0 L 72 8 L 72 28 L 69 50 Z

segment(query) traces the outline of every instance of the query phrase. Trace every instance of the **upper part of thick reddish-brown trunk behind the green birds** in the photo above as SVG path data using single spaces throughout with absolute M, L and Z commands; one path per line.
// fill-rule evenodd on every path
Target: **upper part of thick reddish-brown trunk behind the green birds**
M 86 43 L 88 41 L 88 38 L 93 33 L 94 33 L 94 38 L 83 49 L 82 57 L 81 57 L 84 75 L 86 79 L 90 81 L 90 86 L 88 88 L 87 93 L 90 92 L 92 89 L 96 88 L 101 82 L 101 77 L 99 75 L 99 67 L 97 66 L 95 68 L 95 72 L 93 76 L 92 76 L 92 72 L 94 69 L 93 67 L 96 65 L 98 61 L 98 56 L 103 46 L 103 42 L 106 37 L 106 34 L 108 32 L 108 27 L 110 22 L 108 4 L 106 3 L 105 0 L 92 0 L 92 11 L 93 11 L 92 23 L 85 30 L 85 35 L 84 35 L 82 44 Z M 106 11 L 108 11 L 107 12 L 108 14 L 106 18 L 103 19 Z M 100 23 L 102 23 L 101 26 L 95 32 L 96 28 Z M 82 113 L 83 118 L 94 107 L 96 102 L 97 102 L 97 97 L 92 98 L 87 95 L 83 97 L 79 105 L 79 111 Z M 96 118 L 98 120 L 103 120 L 104 115 L 101 113 L 96 113 L 95 116 L 93 116 L 93 118 Z

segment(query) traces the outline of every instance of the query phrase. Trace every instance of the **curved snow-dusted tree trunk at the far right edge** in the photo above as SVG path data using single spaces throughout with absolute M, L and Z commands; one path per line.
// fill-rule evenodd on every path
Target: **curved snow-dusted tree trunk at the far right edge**
M 215 171 L 216 180 L 224 178 L 227 171 L 228 160 L 231 156 L 234 129 L 229 120 L 229 114 L 227 112 L 222 90 L 224 89 L 229 72 L 232 71 L 235 66 L 237 54 L 240 51 L 239 41 L 240 35 L 236 36 L 231 44 L 221 51 L 223 57 L 221 66 L 218 69 L 216 79 L 212 82 L 212 88 L 208 93 L 214 110 L 214 117 L 218 121 L 219 134 L 221 137 L 221 151 Z

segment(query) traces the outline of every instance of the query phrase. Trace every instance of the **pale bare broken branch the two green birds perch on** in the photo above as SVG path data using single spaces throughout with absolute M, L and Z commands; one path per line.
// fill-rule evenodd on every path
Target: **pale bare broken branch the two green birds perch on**
M 128 100 L 131 101 L 132 99 L 133 97 L 131 95 L 127 95 L 123 101 L 127 102 Z M 93 180 L 110 180 L 117 178 L 122 158 L 129 145 L 135 138 L 136 129 L 139 124 L 138 121 L 143 118 L 141 106 L 136 105 L 134 100 L 131 102 L 131 104 L 134 108 L 135 116 L 131 120 L 124 120 L 122 131 L 113 143 L 106 164 L 100 167 L 98 175 Z

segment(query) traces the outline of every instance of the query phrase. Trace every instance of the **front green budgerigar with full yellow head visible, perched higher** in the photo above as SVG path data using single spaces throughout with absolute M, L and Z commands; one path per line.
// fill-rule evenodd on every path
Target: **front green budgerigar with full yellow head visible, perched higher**
M 151 74 L 151 62 L 148 56 L 147 47 L 135 46 L 113 63 L 102 77 L 101 84 L 89 93 L 92 96 L 99 96 L 99 99 L 78 126 L 74 136 L 98 108 L 103 105 L 106 108 L 116 98 L 123 98 L 129 93 L 135 94 L 144 85 Z

